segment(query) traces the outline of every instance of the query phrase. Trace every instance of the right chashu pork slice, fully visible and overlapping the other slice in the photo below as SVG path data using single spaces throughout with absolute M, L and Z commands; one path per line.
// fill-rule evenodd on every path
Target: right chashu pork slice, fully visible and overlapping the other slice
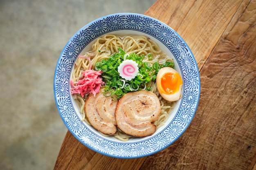
M 126 93 L 117 103 L 117 127 L 130 136 L 152 135 L 157 127 L 152 124 L 161 112 L 157 95 L 149 91 Z

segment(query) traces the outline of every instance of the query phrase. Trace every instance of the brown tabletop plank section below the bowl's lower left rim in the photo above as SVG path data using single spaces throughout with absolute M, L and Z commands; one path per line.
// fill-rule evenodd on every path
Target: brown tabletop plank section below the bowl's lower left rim
M 139 170 L 146 159 L 118 159 L 101 155 L 81 144 L 70 131 L 65 136 L 58 158 L 54 170 Z

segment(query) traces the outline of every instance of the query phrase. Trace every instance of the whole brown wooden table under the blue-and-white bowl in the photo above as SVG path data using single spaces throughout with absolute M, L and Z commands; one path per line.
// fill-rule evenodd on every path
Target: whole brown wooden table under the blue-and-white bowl
M 197 61 L 189 128 L 139 159 L 101 155 L 67 132 L 54 170 L 256 170 L 256 0 L 157 0 L 145 15 L 177 31 Z

